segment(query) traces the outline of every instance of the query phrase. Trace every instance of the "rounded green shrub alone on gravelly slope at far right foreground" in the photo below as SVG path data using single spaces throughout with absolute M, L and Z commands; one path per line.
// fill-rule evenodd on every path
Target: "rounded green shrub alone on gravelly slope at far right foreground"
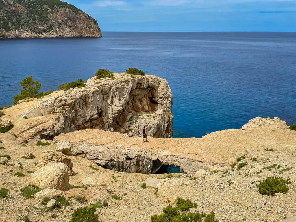
M 271 196 L 276 193 L 287 193 L 290 179 L 284 180 L 281 177 L 267 177 L 263 181 L 259 181 L 257 185 L 260 194 Z

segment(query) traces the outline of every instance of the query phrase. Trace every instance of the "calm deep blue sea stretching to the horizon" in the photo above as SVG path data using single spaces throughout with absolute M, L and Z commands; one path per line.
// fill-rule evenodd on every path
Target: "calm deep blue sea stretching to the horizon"
M 103 32 L 0 40 L 0 52 L 0 106 L 12 104 L 30 75 L 50 91 L 99 68 L 137 67 L 167 79 L 174 137 L 240 128 L 257 116 L 296 123 L 296 33 Z

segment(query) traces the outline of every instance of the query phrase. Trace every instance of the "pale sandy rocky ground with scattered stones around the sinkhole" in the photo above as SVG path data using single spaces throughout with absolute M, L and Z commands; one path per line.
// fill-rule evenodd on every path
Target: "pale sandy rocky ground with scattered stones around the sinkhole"
M 214 211 L 218 221 L 223 222 L 277 222 L 296 215 L 296 131 L 289 130 L 282 120 L 258 117 L 241 129 L 217 131 L 203 138 L 148 137 L 148 143 L 139 137 L 90 129 L 61 134 L 53 141 L 42 140 L 48 145 L 37 146 L 36 141 L 25 141 L 15 133 L 29 120 L 17 116 L 38 102 L 23 102 L 3 111 L 2 119 L 10 119 L 15 127 L 0 133 L 0 147 L 5 148 L 0 149 L 0 156 L 11 157 L 0 157 L 0 189 L 8 189 L 7 197 L 0 197 L 0 221 L 22 221 L 25 216 L 30 221 L 69 221 L 75 209 L 104 202 L 104 207 L 97 210 L 99 221 L 144 222 L 162 213 L 169 204 L 176 205 L 176 197 L 196 203 L 192 211 Z M 92 137 L 94 132 L 97 138 Z M 192 172 L 182 174 L 118 172 L 97 166 L 88 159 L 87 150 L 74 155 L 57 152 L 60 140 L 73 146 L 78 143 L 80 147 L 84 144 L 102 148 L 109 144 L 125 150 L 137 149 L 159 158 L 178 155 L 207 164 L 199 164 L 199 168 L 192 165 Z M 238 157 L 241 160 L 237 161 Z M 247 165 L 238 169 L 239 163 Z M 18 172 L 24 176 L 15 175 Z M 290 178 L 289 191 L 274 196 L 259 194 L 256 185 L 268 176 Z M 158 180 L 151 184 L 148 178 Z M 145 189 L 141 187 L 144 182 Z M 29 184 L 43 190 L 25 200 L 21 189 Z M 70 198 L 69 205 L 45 209 L 41 204 L 43 198 L 52 199 L 54 194 Z M 115 195 L 121 200 L 116 200 Z M 85 202 L 78 202 L 75 197 L 85 198 Z

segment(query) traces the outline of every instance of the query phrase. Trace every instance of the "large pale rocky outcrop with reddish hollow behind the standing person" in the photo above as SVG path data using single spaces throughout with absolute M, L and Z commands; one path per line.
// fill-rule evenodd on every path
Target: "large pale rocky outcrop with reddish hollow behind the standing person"
M 60 133 L 94 128 L 140 136 L 146 126 L 148 136 L 173 136 L 173 98 L 167 81 L 126 73 L 116 73 L 115 78 L 90 78 L 86 87 L 69 89 L 22 112 L 20 117 L 32 121 L 18 135 L 53 139 Z

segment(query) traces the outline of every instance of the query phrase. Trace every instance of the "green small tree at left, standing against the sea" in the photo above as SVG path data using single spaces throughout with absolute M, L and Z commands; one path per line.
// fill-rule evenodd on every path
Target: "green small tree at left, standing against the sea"
M 32 76 L 22 79 L 20 84 L 22 86 L 22 89 L 20 90 L 21 93 L 13 97 L 13 104 L 17 104 L 17 102 L 21 99 L 36 97 L 41 87 L 39 81 L 34 81 Z

